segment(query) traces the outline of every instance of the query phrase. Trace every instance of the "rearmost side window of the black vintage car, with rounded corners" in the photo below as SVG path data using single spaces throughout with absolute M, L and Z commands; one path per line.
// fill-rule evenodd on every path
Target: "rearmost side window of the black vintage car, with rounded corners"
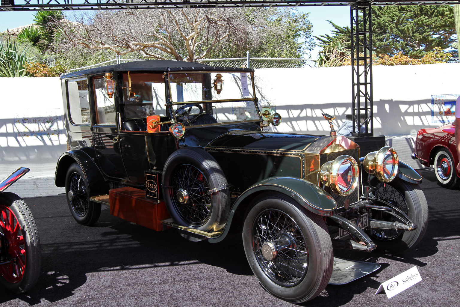
M 90 123 L 88 82 L 86 78 L 67 81 L 67 98 L 69 99 L 69 116 L 74 124 Z

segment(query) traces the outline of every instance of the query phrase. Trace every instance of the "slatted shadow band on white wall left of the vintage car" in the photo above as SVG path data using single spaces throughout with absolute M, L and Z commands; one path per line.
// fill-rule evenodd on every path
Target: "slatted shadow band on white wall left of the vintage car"
M 0 119 L 0 162 L 53 163 L 67 149 L 61 116 Z

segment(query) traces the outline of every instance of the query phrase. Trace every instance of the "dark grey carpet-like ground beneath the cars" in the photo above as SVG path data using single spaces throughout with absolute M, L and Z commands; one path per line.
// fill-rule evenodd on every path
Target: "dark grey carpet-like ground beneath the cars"
M 459 306 L 460 191 L 437 185 L 421 170 L 429 224 L 416 249 L 403 255 L 337 250 L 381 268 L 350 284 L 329 285 L 301 306 Z M 64 196 L 28 198 L 40 232 L 41 275 L 27 294 L 0 285 L 0 306 L 293 306 L 265 292 L 249 268 L 241 237 L 192 243 L 174 230 L 155 232 L 103 211 L 81 226 Z M 417 266 L 422 281 L 388 299 L 380 283 Z

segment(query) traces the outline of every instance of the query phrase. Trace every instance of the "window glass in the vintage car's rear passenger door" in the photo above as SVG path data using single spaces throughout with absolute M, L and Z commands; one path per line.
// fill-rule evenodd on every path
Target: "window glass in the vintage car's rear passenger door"
M 96 104 L 96 124 L 115 125 L 115 98 L 109 98 L 104 91 L 104 77 L 94 77 L 94 101 Z

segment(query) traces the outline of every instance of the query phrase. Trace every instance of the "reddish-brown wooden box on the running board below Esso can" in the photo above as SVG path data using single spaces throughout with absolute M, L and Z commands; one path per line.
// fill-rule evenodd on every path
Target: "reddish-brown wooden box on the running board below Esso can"
M 161 231 L 161 220 L 169 219 L 164 202 L 156 203 L 145 197 L 145 191 L 124 187 L 110 190 L 110 214 L 123 220 Z

